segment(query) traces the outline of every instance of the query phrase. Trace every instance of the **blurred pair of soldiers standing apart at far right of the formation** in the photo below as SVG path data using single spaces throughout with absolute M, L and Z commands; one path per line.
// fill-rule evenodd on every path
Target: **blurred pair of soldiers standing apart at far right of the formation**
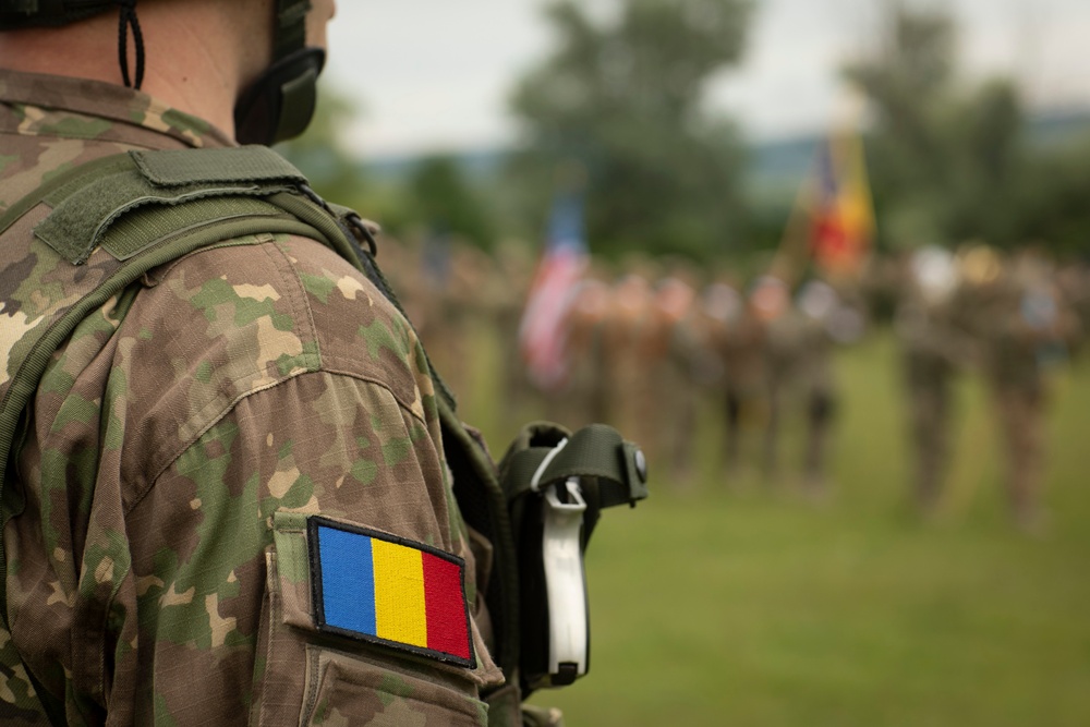
M 986 385 L 1016 522 L 1044 524 L 1045 414 L 1051 367 L 1080 348 L 1087 268 L 1056 266 L 1032 251 L 1004 256 L 985 245 L 952 254 L 924 249 L 903 260 L 895 329 L 901 342 L 920 509 L 941 509 L 955 436 L 953 387 Z

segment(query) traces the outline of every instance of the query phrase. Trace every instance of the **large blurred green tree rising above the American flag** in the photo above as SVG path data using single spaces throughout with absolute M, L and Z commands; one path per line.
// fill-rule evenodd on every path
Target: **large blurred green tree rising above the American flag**
M 751 0 L 621 0 L 611 21 L 576 0 L 548 7 L 552 58 L 512 95 L 524 144 L 510 173 L 542 229 L 555 170 L 586 171 L 595 252 L 737 245 L 743 230 L 737 133 L 704 108 L 704 89 L 738 62 Z

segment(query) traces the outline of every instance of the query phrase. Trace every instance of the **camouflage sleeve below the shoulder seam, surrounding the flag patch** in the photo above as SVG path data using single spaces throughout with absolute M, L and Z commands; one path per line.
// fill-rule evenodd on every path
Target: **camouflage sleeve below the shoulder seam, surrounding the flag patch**
M 423 420 L 382 385 L 320 372 L 240 401 L 134 513 L 147 557 L 133 569 L 146 579 L 136 610 L 149 644 L 138 667 L 153 690 L 138 700 L 154 708 L 148 717 L 241 724 L 249 706 L 263 725 L 379 715 L 388 724 L 484 724 L 476 693 L 489 674 L 480 638 L 470 668 L 422 654 L 426 634 L 423 643 L 388 635 L 375 644 L 359 638 L 366 627 L 346 635 L 315 621 L 308 520 L 396 535 L 412 544 L 405 553 L 420 544 L 464 557 L 443 478 Z M 364 555 L 323 553 L 322 566 L 372 568 Z M 354 607 L 386 597 L 392 608 L 414 608 L 411 596 L 382 589 L 376 582 Z

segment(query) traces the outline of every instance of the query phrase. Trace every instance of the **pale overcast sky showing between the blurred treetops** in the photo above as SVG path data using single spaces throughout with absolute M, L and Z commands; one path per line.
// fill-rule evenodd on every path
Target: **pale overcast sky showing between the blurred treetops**
M 584 0 L 588 5 L 609 0 Z M 872 41 L 886 0 L 758 0 L 743 63 L 712 104 L 768 138 L 821 129 L 836 72 Z M 1090 106 L 1090 0 L 920 0 L 955 9 L 964 66 L 1007 73 L 1038 106 Z M 368 156 L 491 147 L 513 135 L 507 95 L 552 45 L 545 0 L 340 0 L 328 81 L 353 96 Z

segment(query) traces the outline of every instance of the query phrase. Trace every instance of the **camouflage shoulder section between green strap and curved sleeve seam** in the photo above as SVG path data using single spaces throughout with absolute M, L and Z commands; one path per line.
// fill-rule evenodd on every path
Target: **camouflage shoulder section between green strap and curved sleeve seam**
M 425 417 L 434 390 L 411 326 L 314 240 L 240 238 L 154 270 L 145 286 L 118 331 L 114 368 L 138 428 L 159 433 L 160 464 L 241 399 L 308 373 L 380 386 Z

